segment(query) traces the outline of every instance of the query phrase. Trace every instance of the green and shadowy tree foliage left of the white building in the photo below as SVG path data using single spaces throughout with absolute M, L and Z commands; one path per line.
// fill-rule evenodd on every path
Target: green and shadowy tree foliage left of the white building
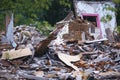
M 14 13 L 15 26 L 54 25 L 68 14 L 69 8 L 69 0 L 0 0 L 0 26 L 5 27 L 2 23 L 10 13 Z

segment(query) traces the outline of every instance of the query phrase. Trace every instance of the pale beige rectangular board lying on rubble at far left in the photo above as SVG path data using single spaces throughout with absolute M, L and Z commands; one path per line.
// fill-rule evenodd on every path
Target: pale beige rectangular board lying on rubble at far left
M 32 52 L 29 48 L 19 49 L 19 50 L 10 50 L 10 51 L 3 52 L 1 59 L 12 60 L 12 59 L 21 58 L 29 55 L 32 55 Z

